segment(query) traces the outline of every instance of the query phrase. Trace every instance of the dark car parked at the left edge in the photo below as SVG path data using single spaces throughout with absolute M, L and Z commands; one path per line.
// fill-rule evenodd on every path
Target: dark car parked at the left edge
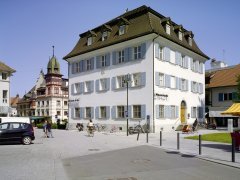
M 35 139 L 31 124 L 23 122 L 6 122 L 0 124 L 0 142 L 21 142 L 29 145 Z

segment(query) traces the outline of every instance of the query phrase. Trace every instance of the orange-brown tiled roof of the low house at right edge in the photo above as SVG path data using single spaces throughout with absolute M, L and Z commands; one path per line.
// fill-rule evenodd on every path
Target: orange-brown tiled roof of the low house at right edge
M 208 88 L 223 87 L 223 86 L 236 86 L 237 75 L 240 75 L 240 64 L 231 68 L 224 68 L 206 74 L 210 76 L 210 83 Z

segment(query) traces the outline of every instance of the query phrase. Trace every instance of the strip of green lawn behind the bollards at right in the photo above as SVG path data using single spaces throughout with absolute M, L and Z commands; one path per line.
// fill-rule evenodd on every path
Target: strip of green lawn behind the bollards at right
M 198 140 L 199 136 L 188 136 L 184 139 L 193 139 Z M 231 143 L 231 135 L 230 133 L 213 133 L 213 134 L 203 134 L 202 141 L 212 141 L 212 142 L 222 142 L 222 143 Z

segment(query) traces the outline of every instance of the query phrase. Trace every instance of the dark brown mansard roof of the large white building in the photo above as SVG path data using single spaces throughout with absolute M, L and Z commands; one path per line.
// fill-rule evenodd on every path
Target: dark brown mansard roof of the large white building
M 74 57 L 80 54 L 84 54 L 96 49 L 100 49 L 106 46 L 110 46 L 113 44 L 117 44 L 123 41 L 131 40 L 137 37 L 141 37 L 144 35 L 148 35 L 151 33 L 158 34 L 174 43 L 177 43 L 195 53 L 209 59 L 207 55 L 205 55 L 197 46 L 194 39 L 192 39 L 192 46 L 190 46 L 187 40 L 183 37 L 183 40 L 179 40 L 176 32 L 174 31 L 174 27 L 177 26 L 176 23 L 171 21 L 171 35 L 168 35 L 161 24 L 161 20 L 165 19 L 163 15 L 159 14 L 158 12 L 154 11 L 150 7 L 141 6 L 136 8 L 132 11 L 128 11 L 111 21 L 104 23 L 101 26 L 98 26 L 92 29 L 92 32 L 95 32 L 96 37 L 94 43 L 90 46 L 87 46 L 87 37 L 89 35 L 89 31 L 80 34 L 80 39 L 77 42 L 76 46 L 73 50 L 66 55 L 63 59 L 67 60 L 70 57 Z M 118 35 L 119 23 L 122 19 L 126 19 L 129 22 L 127 33 L 124 35 Z M 109 26 L 111 28 L 110 36 L 107 40 L 101 41 L 102 35 L 102 27 Z M 175 29 L 176 30 L 176 29 Z M 186 35 L 189 31 L 182 28 L 183 35 Z

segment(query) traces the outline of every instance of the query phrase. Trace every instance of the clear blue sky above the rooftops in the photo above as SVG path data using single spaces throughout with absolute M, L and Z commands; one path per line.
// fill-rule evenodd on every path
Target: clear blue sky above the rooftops
M 141 5 L 191 30 L 210 58 L 240 63 L 238 0 L 0 0 L 0 61 L 17 71 L 11 77 L 11 96 L 24 95 L 41 69 L 46 73 L 52 45 L 67 78 L 62 58 L 79 34 Z

